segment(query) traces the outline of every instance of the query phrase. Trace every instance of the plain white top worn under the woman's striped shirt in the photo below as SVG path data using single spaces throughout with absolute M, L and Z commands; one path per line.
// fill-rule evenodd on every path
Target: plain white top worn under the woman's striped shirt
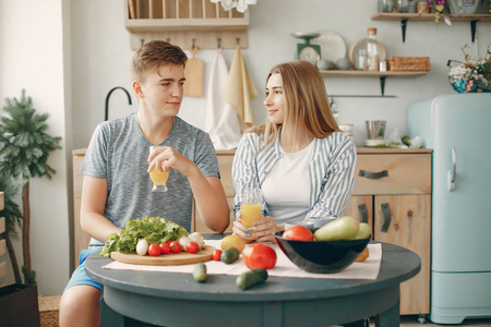
M 270 215 L 278 223 L 303 220 L 310 205 L 309 162 L 314 143 L 297 153 L 280 148 L 282 158 L 264 180 L 262 190 Z

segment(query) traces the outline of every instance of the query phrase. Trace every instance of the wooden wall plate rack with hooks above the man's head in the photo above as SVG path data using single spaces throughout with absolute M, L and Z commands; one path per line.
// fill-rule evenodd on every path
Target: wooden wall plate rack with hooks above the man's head
M 160 39 L 190 49 L 248 48 L 249 11 L 224 11 L 209 0 L 123 1 L 130 47 Z

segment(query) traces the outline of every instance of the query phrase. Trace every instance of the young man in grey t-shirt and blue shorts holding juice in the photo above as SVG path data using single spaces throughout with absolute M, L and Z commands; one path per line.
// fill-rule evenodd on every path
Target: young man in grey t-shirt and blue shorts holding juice
M 60 325 L 99 326 L 101 286 L 83 262 L 119 233 L 129 219 L 160 216 L 191 229 L 194 196 L 200 217 L 216 232 L 229 223 L 228 204 L 212 141 L 177 117 L 183 98 L 185 53 L 166 41 L 151 41 L 132 60 L 139 111 L 100 123 L 81 171 L 81 226 L 91 234 L 60 304 Z M 149 154 L 149 146 L 161 145 Z M 169 171 L 167 192 L 152 192 L 148 172 Z

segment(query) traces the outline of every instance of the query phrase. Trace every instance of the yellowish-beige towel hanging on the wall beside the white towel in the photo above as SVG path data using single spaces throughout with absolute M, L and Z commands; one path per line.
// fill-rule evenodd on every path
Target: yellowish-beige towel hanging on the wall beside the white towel
M 258 96 L 258 90 L 251 76 L 249 76 L 240 46 L 237 46 L 236 55 L 230 64 L 225 100 L 232 106 L 241 121 L 249 128 L 254 125 L 251 99 L 255 96 Z

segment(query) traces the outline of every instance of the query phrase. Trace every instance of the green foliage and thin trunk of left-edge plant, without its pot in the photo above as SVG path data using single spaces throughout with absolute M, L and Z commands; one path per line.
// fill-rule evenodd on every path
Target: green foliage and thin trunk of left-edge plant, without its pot
M 31 266 L 29 227 L 29 180 L 31 178 L 47 177 L 56 173 L 48 164 L 49 153 L 61 148 L 59 143 L 61 137 L 50 136 L 46 133 L 49 118 L 48 113 L 38 114 L 33 107 L 31 97 L 26 97 L 22 90 L 21 98 L 5 98 L 5 105 L 0 119 L 0 171 L 5 177 L 11 177 L 5 182 L 17 183 L 22 187 L 22 251 L 24 266 L 22 272 L 26 284 L 36 283 L 36 275 Z M 7 114 L 4 114 L 7 113 Z M 19 223 L 17 218 L 15 221 Z M 14 233 L 13 223 L 9 230 Z M 11 257 L 12 261 L 12 257 Z M 12 262 L 14 264 L 14 262 Z M 15 270 L 15 267 L 14 267 Z M 17 268 L 19 271 L 19 268 Z M 16 277 L 17 279 L 17 277 Z

